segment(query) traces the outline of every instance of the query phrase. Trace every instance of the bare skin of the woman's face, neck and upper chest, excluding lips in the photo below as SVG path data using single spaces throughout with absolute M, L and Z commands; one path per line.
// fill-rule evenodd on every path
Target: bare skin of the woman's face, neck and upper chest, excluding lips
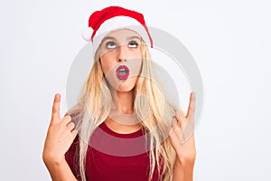
M 102 71 L 107 77 L 113 99 L 120 112 L 132 114 L 134 112 L 134 88 L 141 70 L 141 38 L 130 30 L 117 30 L 108 33 L 100 45 L 100 62 Z M 116 69 L 119 65 L 126 64 L 133 76 L 125 81 L 118 81 Z M 118 85 L 114 87 L 114 85 Z M 117 133 L 131 133 L 141 129 L 140 124 L 119 124 L 110 118 L 105 120 L 107 127 Z

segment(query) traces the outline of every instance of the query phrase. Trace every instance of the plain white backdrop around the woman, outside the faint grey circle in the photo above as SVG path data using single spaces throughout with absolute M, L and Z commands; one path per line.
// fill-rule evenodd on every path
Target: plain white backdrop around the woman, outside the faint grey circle
M 121 4 L 122 3 L 122 4 Z M 1 180 L 50 180 L 42 147 L 55 92 L 85 45 L 89 14 L 123 5 L 192 53 L 205 88 L 196 181 L 271 180 L 271 24 L 268 1 L 34 1 L 0 3 Z

